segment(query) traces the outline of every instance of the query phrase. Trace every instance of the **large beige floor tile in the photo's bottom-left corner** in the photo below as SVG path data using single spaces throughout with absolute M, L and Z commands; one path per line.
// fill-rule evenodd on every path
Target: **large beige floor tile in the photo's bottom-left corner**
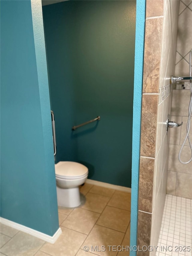
M 2 248 L 1 252 L 9 256 L 33 256 L 45 241 L 19 231 Z

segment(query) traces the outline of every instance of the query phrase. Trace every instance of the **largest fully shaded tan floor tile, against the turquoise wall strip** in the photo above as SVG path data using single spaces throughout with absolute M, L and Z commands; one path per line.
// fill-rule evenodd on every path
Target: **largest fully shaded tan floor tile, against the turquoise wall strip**
M 106 206 L 101 216 L 99 217 L 97 224 L 121 232 L 126 232 L 130 218 L 131 212 L 111 206 Z

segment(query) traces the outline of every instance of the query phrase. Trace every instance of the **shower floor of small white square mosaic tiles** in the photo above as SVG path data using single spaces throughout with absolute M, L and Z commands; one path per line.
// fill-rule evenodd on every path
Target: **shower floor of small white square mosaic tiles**
M 192 256 L 191 246 L 192 199 L 167 194 L 156 256 Z

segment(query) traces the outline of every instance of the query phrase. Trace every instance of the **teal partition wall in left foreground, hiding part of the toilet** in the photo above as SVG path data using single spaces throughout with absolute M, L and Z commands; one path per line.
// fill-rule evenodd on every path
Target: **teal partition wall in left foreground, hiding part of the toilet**
M 52 236 L 59 226 L 41 3 L 33 15 L 36 27 L 31 1 L 1 1 L 0 214 Z

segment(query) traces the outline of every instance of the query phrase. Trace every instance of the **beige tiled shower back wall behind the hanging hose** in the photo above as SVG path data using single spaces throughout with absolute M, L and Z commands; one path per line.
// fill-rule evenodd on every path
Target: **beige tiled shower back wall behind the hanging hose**
M 179 2 L 177 52 L 174 75 L 189 76 L 189 52 L 192 48 L 192 1 Z M 171 119 L 179 123 L 183 122 L 183 125 L 176 129 L 170 129 L 167 193 L 192 198 L 192 162 L 189 164 L 181 164 L 178 160 L 179 150 L 186 135 L 190 90 L 181 89 L 181 86 L 177 86 L 176 88 L 178 89 L 173 90 Z M 192 125 L 190 137 L 192 138 Z M 188 161 L 190 157 L 190 147 L 188 141 L 186 141 L 181 158 L 182 161 Z

